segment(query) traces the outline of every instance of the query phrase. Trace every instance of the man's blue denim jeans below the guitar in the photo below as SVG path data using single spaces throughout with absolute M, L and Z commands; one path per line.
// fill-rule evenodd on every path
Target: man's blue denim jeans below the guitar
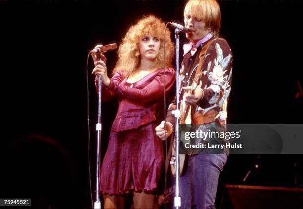
M 180 177 L 181 209 L 214 209 L 219 175 L 227 154 L 190 156 L 185 175 Z

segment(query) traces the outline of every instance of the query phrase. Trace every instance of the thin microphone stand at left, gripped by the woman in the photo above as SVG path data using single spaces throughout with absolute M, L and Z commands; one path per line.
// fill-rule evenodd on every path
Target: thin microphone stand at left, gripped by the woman
M 99 58 L 101 60 L 101 57 Z M 96 201 L 94 204 L 94 209 L 101 209 L 101 202 L 100 202 L 100 196 L 99 196 L 99 186 L 100 186 L 100 152 L 101 152 L 101 130 L 102 130 L 102 124 L 101 124 L 101 75 L 98 75 L 98 123 L 96 124 L 96 130 L 97 130 L 97 168 L 96 168 Z

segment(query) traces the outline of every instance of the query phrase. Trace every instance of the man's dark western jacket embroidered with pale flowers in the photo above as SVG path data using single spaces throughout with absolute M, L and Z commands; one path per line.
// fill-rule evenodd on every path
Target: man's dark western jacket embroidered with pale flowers
M 222 38 L 210 39 L 202 64 L 202 86 L 204 95 L 197 105 L 192 106 L 191 124 L 208 126 L 211 124 L 217 130 L 226 128 L 227 102 L 231 91 L 232 52 L 227 42 Z M 207 43 L 206 42 L 206 43 Z M 179 77 L 180 102 L 184 90 L 181 87 L 190 86 L 199 64 L 199 54 L 205 44 L 198 47 L 192 55 L 184 55 Z M 175 126 L 174 110 L 176 102 L 169 105 L 166 120 Z M 221 129 L 222 130 L 222 129 Z

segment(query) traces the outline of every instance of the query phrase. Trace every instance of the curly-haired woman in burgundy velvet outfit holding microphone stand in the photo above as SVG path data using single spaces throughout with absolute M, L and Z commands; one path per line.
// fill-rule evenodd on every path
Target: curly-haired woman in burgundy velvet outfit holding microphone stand
M 171 66 L 174 52 L 167 30 L 164 63 L 164 26 L 158 18 L 148 16 L 130 27 L 119 47 L 112 78 L 107 77 L 103 61 L 95 62 L 93 74 L 96 81 L 101 75 L 102 95 L 107 100 L 116 95 L 119 102 L 101 167 L 105 209 L 124 208 L 123 195 L 131 191 L 134 208 L 153 208 L 163 165 L 156 118 L 162 116 L 157 114 L 162 110 L 163 89 L 167 93 L 175 78 L 173 69 L 163 69 Z

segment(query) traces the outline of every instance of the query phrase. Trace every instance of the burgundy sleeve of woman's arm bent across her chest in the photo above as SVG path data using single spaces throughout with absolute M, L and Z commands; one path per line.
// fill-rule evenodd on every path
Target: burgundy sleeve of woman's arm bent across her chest
M 144 104 L 151 102 L 152 100 L 157 100 L 163 97 L 163 77 L 165 76 L 165 89 L 166 93 L 171 89 L 175 81 L 175 71 L 173 69 L 166 69 L 160 71 L 143 89 L 131 88 L 125 85 L 120 85 L 115 82 L 113 78 L 110 81 L 108 90 L 113 92 L 119 97 L 134 101 L 136 103 Z

